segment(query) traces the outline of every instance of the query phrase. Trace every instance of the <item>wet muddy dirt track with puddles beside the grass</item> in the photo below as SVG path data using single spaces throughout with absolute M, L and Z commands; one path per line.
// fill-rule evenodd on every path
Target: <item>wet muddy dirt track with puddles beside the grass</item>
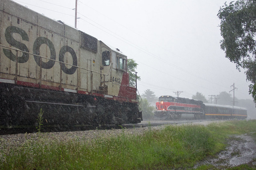
M 213 165 L 218 169 L 247 163 L 256 165 L 256 143 L 250 135 L 231 136 L 227 143 L 228 146 L 225 151 L 220 152 L 215 157 L 207 158 L 194 168 L 207 164 Z

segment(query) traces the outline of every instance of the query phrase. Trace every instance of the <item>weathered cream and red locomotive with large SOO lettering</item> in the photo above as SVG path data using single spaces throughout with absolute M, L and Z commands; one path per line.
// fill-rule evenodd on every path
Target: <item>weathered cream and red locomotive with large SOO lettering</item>
M 118 49 L 11 0 L 0 0 L 0 129 L 140 123 Z M 1 130 L 0 130 L 1 131 Z

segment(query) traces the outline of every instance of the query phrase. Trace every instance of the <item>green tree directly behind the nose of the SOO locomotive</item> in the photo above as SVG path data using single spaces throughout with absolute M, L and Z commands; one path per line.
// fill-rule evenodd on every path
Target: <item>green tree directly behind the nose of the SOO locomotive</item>
M 138 64 L 133 59 L 127 60 L 127 70 L 129 73 L 129 86 L 136 85 L 136 74 L 135 69 L 137 68 Z M 140 77 L 137 76 L 137 80 L 140 80 Z

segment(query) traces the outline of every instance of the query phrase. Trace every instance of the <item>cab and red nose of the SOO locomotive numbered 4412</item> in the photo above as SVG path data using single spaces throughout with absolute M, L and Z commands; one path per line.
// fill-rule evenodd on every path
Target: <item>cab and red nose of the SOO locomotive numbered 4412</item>
M 119 96 L 122 101 L 137 102 L 134 87 L 129 87 L 127 56 L 119 49 L 100 41 L 102 66 L 100 67 L 100 90 L 105 97 Z

